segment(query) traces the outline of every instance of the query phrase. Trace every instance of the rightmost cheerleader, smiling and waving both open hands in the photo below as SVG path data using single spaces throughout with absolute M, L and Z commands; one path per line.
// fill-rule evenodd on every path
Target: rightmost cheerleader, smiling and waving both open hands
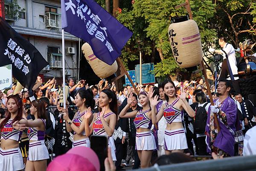
M 172 81 L 164 81 L 162 84 L 166 103 L 164 103 L 158 114 L 156 115 L 156 106 L 158 96 L 155 96 L 151 100 L 152 105 L 152 122 L 156 124 L 164 116 L 167 125 L 164 133 L 164 149 L 165 154 L 171 152 L 183 152 L 184 149 L 188 148 L 186 142 L 186 135 L 182 125 L 183 120 L 183 109 L 189 114 L 190 117 L 195 116 L 194 110 L 190 107 L 186 101 L 186 90 L 182 90 L 180 98 L 177 98 L 175 84 Z

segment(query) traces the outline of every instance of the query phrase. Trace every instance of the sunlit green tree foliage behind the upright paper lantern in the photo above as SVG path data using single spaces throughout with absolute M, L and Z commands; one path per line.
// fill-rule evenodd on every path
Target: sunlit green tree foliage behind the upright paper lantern
M 180 3 L 183 3 L 183 0 L 135 0 L 131 10 L 123 9 L 122 14 L 117 17 L 134 32 L 133 40 L 143 39 L 147 42 L 145 49 L 148 55 L 154 49 L 157 50 L 162 61 L 155 65 L 156 76 L 170 75 L 180 70 L 174 61 L 168 38 L 170 19 L 187 14 L 184 8 L 175 9 Z M 210 18 L 214 17 L 215 4 L 211 0 L 192 0 L 190 3 L 194 20 L 198 23 L 201 32 L 202 42 L 211 42 L 216 32 L 214 29 L 208 29 L 208 25 Z M 134 44 L 133 47 L 137 48 Z M 144 52 L 145 49 L 143 48 Z M 132 54 L 130 52 L 126 51 L 125 56 L 124 53 L 122 54 L 123 61 Z

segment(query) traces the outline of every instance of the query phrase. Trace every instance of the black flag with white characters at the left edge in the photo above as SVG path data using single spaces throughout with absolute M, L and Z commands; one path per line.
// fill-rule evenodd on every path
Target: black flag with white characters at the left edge
M 31 93 L 38 73 L 48 65 L 44 57 L 0 17 L 0 66 L 12 64 L 12 75 Z

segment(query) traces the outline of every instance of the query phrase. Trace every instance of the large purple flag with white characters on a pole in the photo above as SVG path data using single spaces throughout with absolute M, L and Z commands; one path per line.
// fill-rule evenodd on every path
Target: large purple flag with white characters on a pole
M 61 0 L 61 25 L 65 32 L 89 43 L 94 55 L 109 65 L 132 35 L 94 0 Z

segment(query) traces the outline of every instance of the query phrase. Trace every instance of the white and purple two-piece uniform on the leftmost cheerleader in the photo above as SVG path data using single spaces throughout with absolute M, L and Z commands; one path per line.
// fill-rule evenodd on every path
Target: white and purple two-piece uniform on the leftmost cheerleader
M 20 141 L 22 131 L 12 127 L 12 119 L 9 119 L 1 128 L 1 139 Z M 18 171 L 24 168 L 20 148 L 3 150 L 0 148 L 0 171 Z

